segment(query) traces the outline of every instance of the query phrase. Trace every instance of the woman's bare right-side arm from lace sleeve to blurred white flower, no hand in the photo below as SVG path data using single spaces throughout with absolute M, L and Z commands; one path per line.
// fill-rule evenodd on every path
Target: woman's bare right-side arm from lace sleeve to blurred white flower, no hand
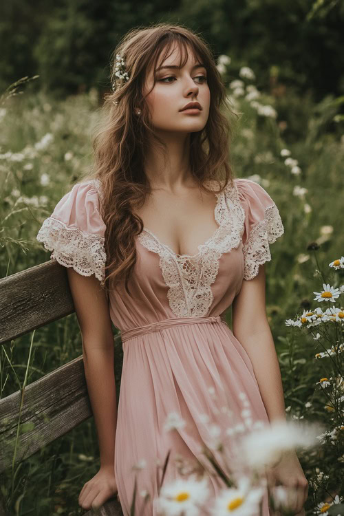
M 265 281 L 263 264 L 255 278 L 243 281 L 233 301 L 232 313 L 233 334 L 250 357 L 271 422 L 286 420 L 286 406 L 279 361 L 266 316 Z

